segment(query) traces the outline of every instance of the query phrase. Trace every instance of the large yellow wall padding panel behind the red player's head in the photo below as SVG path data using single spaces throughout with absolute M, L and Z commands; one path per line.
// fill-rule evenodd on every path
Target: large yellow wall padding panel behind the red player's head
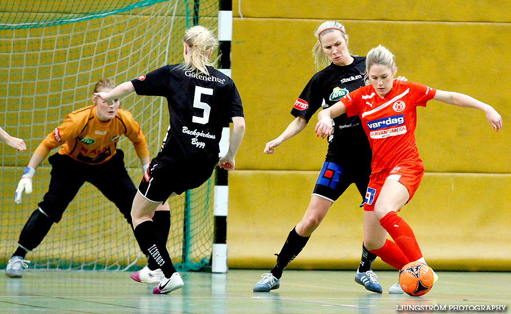
M 293 120 L 292 105 L 315 73 L 313 32 L 322 21 L 235 18 L 231 67 L 247 123 L 237 155 L 239 169 L 319 170 L 327 143 L 314 134 L 315 116 L 302 133 L 276 149 L 278 157 L 262 151 Z M 507 105 L 511 96 L 499 88 L 507 76 L 505 65 L 511 64 L 509 23 L 346 20 L 344 24 L 352 54 L 364 56 L 371 47 L 383 44 L 396 55 L 398 75 L 487 102 L 502 114 L 504 125 L 511 118 Z M 430 172 L 511 173 L 511 164 L 502 157 L 511 153 L 508 129 L 495 133 L 479 110 L 430 101 L 428 107 L 418 109 L 416 138 Z

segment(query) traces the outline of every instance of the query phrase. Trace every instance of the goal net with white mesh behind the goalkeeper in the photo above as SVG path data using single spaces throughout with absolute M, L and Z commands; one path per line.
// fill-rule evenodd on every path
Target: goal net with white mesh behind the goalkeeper
M 181 62 L 184 30 L 197 23 L 216 29 L 218 6 L 215 0 L 0 4 L 0 126 L 27 143 L 23 153 L 0 144 L 0 268 L 6 267 L 19 232 L 48 190 L 51 166 L 46 159 L 34 175 L 32 194 L 24 194 L 22 204 L 14 204 L 19 178 L 42 139 L 67 113 L 91 104 L 100 78 L 120 84 Z M 121 106 L 141 125 L 154 157 L 169 123 L 166 100 L 133 93 Z M 123 137 L 118 148 L 125 152 L 128 173 L 138 185 L 142 170 L 133 145 Z M 210 262 L 213 184 L 210 179 L 169 199 L 167 247 L 178 270 L 198 270 Z M 89 183 L 26 258 L 34 269 L 126 270 L 146 263 L 123 215 Z

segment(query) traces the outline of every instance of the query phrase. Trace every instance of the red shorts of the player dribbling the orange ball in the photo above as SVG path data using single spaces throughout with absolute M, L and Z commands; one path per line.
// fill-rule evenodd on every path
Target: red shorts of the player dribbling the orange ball
M 396 180 L 408 189 L 410 198 L 407 202 L 409 202 L 417 188 L 419 188 L 423 175 L 424 166 L 422 163 L 415 161 L 403 161 L 393 168 L 387 168 L 371 174 L 369 184 L 367 185 L 367 192 L 365 193 L 364 210 L 375 210 L 376 200 L 387 179 Z

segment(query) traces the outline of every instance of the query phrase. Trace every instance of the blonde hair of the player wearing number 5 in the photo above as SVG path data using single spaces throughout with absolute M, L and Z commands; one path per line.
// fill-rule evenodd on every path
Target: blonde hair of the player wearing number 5
M 190 60 L 182 64 L 180 68 L 210 75 L 206 66 L 215 66 L 220 59 L 218 55 L 218 39 L 210 29 L 203 26 L 194 26 L 184 32 L 183 43 L 192 50 Z M 213 50 L 217 56 L 210 61 L 208 54 Z

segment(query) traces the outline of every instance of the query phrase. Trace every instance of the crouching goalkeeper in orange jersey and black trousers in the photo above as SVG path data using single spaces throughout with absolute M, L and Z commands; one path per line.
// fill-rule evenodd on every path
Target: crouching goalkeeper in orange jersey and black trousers
M 112 80 L 101 79 L 94 91 L 108 92 L 114 87 Z M 15 192 L 16 204 L 21 203 L 23 190 L 27 194 L 32 192 L 32 177 L 37 166 L 52 149 L 62 146 L 48 158 L 52 164 L 50 187 L 21 230 L 18 247 L 7 264 L 8 277 L 21 277 L 22 269 L 27 268 L 27 262 L 30 262 L 25 260 L 28 251 L 35 249 L 53 223 L 60 221 L 67 205 L 85 182 L 96 186 L 131 224 L 130 211 L 136 187 L 124 166 L 124 153 L 116 146 L 121 135 L 128 137 L 146 171 L 149 166 L 147 142 L 131 113 L 119 108 L 119 99 L 112 104 L 97 98 L 93 98 L 92 102 L 93 105 L 69 113 L 64 122 L 48 134 L 35 150 L 19 180 Z M 167 240 L 170 229 L 167 202 L 158 206 L 154 221 L 158 235 Z M 147 270 L 146 266 L 135 273 L 138 281 L 159 282 L 159 275 L 153 279 Z

